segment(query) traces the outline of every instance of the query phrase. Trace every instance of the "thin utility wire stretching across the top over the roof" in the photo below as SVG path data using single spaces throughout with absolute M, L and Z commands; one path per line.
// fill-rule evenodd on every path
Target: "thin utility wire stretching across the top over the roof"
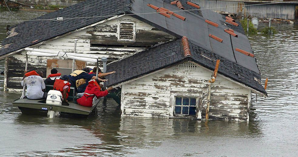
M 5 0 L 4 0 L 4 2 L 5 2 Z M 290 1 L 290 2 L 298 2 L 298 1 Z M 251 4 L 251 5 L 225 6 L 225 7 L 203 8 L 203 9 L 189 9 L 189 10 L 178 10 L 178 11 L 171 11 L 171 12 L 184 12 L 184 11 L 205 10 L 205 9 L 219 9 L 219 8 L 230 8 L 230 7 L 243 7 L 243 6 L 253 6 L 253 5 L 267 5 L 267 4 L 277 4 L 277 3 L 289 3 L 289 2 L 274 2 L 274 3 L 262 3 L 262 4 Z M 125 15 L 144 15 L 144 14 L 155 14 L 155 13 L 161 13 L 161 12 L 148 12 L 148 13 L 137 13 L 137 14 L 125 14 Z M 118 16 L 118 15 L 73 17 L 73 18 L 63 18 L 63 19 L 86 19 L 86 18 L 111 17 L 111 16 Z M 14 20 L 14 21 L 0 21 L 0 22 L 24 22 L 24 21 L 45 21 L 45 20 L 58 21 L 56 18 L 54 18 L 54 19 Z

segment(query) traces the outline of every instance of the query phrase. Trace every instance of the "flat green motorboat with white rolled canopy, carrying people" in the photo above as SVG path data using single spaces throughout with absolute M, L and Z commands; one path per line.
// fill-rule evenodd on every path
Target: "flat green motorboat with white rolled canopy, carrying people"
M 76 53 L 62 53 L 61 51 L 50 51 L 50 50 L 42 50 L 42 49 L 32 49 L 26 48 L 26 66 L 25 70 L 28 67 L 28 55 L 32 56 L 52 56 L 52 57 L 63 57 L 69 58 L 73 60 L 82 60 L 88 62 L 96 62 L 97 63 L 97 76 L 98 76 L 98 57 L 90 56 L 86 54 L 76 54 Z M 67 57 L 66 57 L 67 56 Z M 106 64 L 106 62 L 103 62 Z M 73 64 L 74 66 L 74 64 Z M 73 67 L 74 68 L 74 67 Z M 94 97 L 93 106 L 85 107 L 79 104 L 73 103 L 76 96 L 76 91 L 74 87 L 70 87 L 68 102 L 62 102 L 61 97 L 62 94 L 60 91 L 53 90 L 53 86 L 46 85 L 46 92 L 48 92 L 48 96 L 46 100 L 32 100 L 26 98 L 26 87 L 24 86 L 22 96 L 12 102 L 13 106 L 18 107 L 22 114 L 41 114 L 47 115 L 49 118 L 53 118 L 56 116 L 80 116 L 87 117 L 89 116 L 94 109 L 97 107 L 97 104 L 103 98 L 97 99 Z

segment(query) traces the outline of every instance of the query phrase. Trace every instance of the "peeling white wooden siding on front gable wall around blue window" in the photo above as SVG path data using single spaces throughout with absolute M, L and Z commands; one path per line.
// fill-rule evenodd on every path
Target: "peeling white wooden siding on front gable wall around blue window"
M 122 89 L 122 115 L 173 117 L 171 95 L 183 93 L 200 97 L 197 118 L 205 118 L 208 79 L 211 76 L 211 70 L 198 65 L 195 70 L 183 70 L 178 65 L 129 82 Z M 248 94 L 249 90 L 245 87 L 218 76 L 211 85 L 209 117 L 246 120 L 250 101 Z

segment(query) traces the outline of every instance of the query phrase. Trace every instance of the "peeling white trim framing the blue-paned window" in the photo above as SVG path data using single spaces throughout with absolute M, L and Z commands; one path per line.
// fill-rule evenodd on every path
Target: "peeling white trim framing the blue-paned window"
M 174 116 L 174 105 L 175 105 L 175 97 L 193 97 L 196 98 L 196 115 L 195 117 L 198 119 L 202 119 L 201 115 L 201 106 L 202 106 L 202 94 L 199 93 L 188 93 L 188 92 L 171 92 L 170 94 L 170 108 L 169 108 L 169 117 L 170 118 L 175 118 Z M 178 117 L 178 118 L 183 118 L 183 117 Z M 185 117 L 189 118 L 189 117 Z

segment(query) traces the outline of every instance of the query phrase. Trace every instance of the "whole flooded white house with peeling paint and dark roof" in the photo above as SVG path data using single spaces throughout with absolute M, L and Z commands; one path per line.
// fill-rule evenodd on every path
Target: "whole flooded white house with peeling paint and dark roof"
M 122 116 L 205 119 L 207 112 L 246 121 L 251 94 L 267 95 L 252 47 L 239 22 L 201 7 L 87 0 L 12 26 L 0 49 L 4 89 L 21 89 L 25 48 L 71 53 L 76 43 L 76 53 L 107 57 L 107 71 L 117 72 L 106 84 L 121 88 Z M 71 69 L 59 57 L 28 57 L 29 69 Z M 86 66 L 94 64 L 76 61 Z

